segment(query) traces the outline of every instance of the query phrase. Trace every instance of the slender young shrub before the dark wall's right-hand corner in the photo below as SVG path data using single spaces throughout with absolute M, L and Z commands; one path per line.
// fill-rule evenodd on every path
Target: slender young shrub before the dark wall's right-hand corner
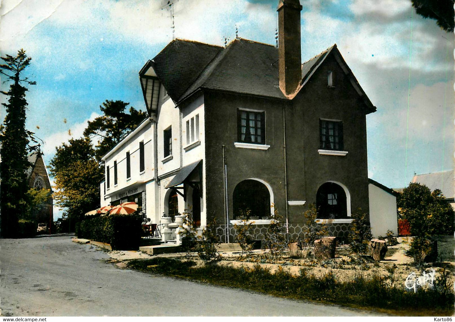
M 359 253 L 360 260 L 362 260 L 362 255 L 367 251 L 369 241 L 373 238 L 368 215 L 359 208 L 357 212 L 351 215 L 351 218 L 351 231 L 349 233 L 351 249 L 355 253 Z

